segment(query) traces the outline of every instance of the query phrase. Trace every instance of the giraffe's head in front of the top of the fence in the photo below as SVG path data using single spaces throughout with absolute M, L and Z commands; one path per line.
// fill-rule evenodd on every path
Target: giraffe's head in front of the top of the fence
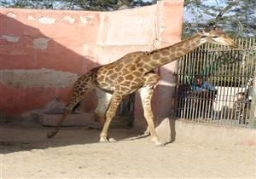
M 238 44 L 220 28 L 212 28 L 211 30 L 201 32 L 201 43 L 217 43 L 232 48 L 238 47 Z

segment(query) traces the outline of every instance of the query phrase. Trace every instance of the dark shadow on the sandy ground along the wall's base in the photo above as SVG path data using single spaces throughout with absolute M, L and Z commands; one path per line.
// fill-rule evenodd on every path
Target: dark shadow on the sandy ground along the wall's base
M 100 130 L 89 129 L 87 126 L 61 127 L 57 136 L 52 139 L 47 138 L 46 134 L 53 129 L 53 127 L 43 127 L 39 124 L 0 124 L 0 153 L 84 145 L 99 141 Z M 139 135 L 136 130 L 129 129 L 110 129 L 109 134 L 117 142 Z

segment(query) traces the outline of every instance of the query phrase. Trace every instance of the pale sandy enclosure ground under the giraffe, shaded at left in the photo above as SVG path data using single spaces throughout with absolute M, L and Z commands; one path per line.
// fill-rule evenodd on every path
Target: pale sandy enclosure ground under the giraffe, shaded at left
M 98 143 L 98 130 L 0 125 L 1 178 L 218 177 L 256 178 L 255 147 L 194 144 L 176 139 L 154 147 L 148 137 L 132 141 L 134 130 L 111 129 L 118 142 Z M 182 131 L 177 131 L 182 132 Z

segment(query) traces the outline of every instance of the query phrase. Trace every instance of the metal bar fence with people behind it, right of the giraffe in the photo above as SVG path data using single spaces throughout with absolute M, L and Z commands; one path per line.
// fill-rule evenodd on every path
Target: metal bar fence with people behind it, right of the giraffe
M 177 116 L 247 127 L 256 65 L 255 37 L 238 49 L 207 43 L 178 62 Z

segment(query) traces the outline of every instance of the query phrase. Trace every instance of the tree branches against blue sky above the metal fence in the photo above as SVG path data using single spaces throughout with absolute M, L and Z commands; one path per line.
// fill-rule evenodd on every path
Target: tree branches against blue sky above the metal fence
M 255 0 L 185 0 L 184 7 L 183 38 L 207 25 L 221 26 L 241 37 L 256 34 Z

